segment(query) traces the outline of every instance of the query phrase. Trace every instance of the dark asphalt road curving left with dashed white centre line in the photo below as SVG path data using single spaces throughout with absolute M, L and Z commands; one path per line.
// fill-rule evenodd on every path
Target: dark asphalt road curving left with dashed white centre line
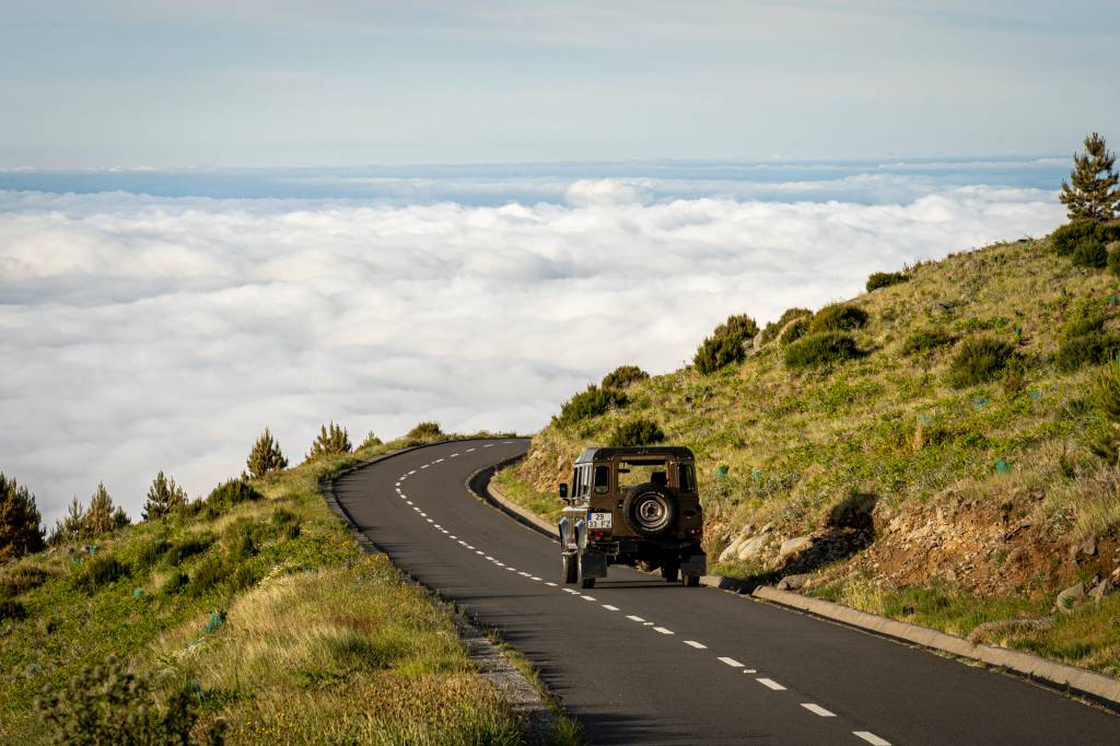
M 529 442 L 420 448 L 340 478 L 409 575 L 521 651 L 589 744 L 1120 744 L 1120 717 L 778 606 L 626 568 L 560 582 L 559 544 L 470 495 Z

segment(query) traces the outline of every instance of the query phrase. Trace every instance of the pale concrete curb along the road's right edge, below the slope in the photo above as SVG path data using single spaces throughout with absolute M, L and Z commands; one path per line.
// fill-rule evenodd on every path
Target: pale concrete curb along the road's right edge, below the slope
M 497 465 L 493 468 L 498 470 Z M 485 472 L 485 469 L 484 469 Z M 479 472 L 482 474 L 482 472 Z M 476 492 L 478 492 L 476 489 Z M 486 497 L 492 504 L 502 511 L 510 513 L 522 523 L 530 525 L 550 539 L 557 538 L 556 528 L 548 521 L 530 512 L 529 510 L 513 503 L 493 485 L 487 483 L 478 494 Z M 1095 671 L 1081 669 L 1075 665 L 1047 661 L 1044 658 L 1023 653 L 1017 650 L 1006 647 L 995 647 L 992 645 L 977 645 L 963 637 L 950 635 L 937 630 L 923 627 L 908 622 L 899 622 L 877 614 L 860 612 L 849 606 L 842 606 L 821 598 L 811 598 L 788 590 L 778 590 L 772 586 L 760 586 L 739 578 L 725 578 L 720 575 L 706 575 L 700 578 L 700 585 L 719 590 L 728 590 L 737 594 L 749 594 L 759 600 L 788 606 L 802 612 L 808 612 L 834 622 L 840 622 L 852 627 L 867 630 L 886 637 L 902 640 L 915 645 L 951 653 L 959 658 L 967 658 L 981 661 L 988 665 L 1014 671 L 1033 681 L 1044 683 L 1062 690 L 1074 691 L 1102 702 L 1110 709 L 1118 709 L 1120 706 L 1120 681 L 1107 677 Z

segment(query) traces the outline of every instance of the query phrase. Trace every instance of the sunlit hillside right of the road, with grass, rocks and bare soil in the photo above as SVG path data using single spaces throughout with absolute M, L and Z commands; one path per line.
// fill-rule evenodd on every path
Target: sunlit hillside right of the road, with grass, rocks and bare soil
M 772 328 L 712 374 L 690 366 L 636 380 L 600 414 L 568 407 L 498 483 L 554 512 L 571 459 L 647 418 L 697 454 L 719 572 L 810 574 L 809 593 L 958 634 L 1048 615 L 1077 580 L 1116 580 L 1120 477 L 1091 453 L 1105 425 L 1090 401 L 1120 329 L 1114 277 L 1074 267 L 1044 239 L 876 283 L 885 287 L 850 301 L 866 311 L 862 326 L 825 311 L 792 325 L 831 320 L 833 337 L 804 345 L 790 341 L 803 327 L 785 342 Z M 954 365 L 977 339 L 980 354 Z M 781 553 L 803 535 L 812 551 Z M 1118 598 L 974 637 L 1117 674 Z

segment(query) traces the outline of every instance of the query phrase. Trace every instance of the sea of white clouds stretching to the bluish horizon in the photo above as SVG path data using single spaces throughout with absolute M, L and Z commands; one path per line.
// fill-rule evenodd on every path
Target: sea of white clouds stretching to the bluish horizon
M 9 172 L 0 470 L 48 521 L 102 479 L 137 516 L 157 470 L 204 494 L 265 426 L 293 463 L 328 420 L 531 432 L 730 314 L 1063 220 L 1048 161 L 950 166 Z

